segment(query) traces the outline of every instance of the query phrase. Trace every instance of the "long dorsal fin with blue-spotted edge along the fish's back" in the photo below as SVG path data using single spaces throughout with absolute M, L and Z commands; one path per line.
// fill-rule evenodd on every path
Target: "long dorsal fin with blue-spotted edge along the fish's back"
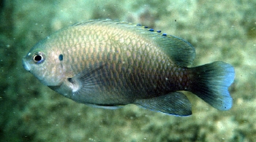
M 139 34 L 143 34 L 146 38 L 152 39 L 154 42 L 159 44 L 159 47 L 173 60 L 176 65 L 181 67 L 189 66 L 195 59 L 195 48 L 192 47 L 189 42 L 184 41 L 176 36 L 167 36 L 166 33 L 161 31 L 154 31 L 152 28 L 143 26 L 140 24 L 133 24 L 127 22 L 118 22 L 110 19 L 106 20 L 89 20 L 83 23 L 76 23 L 72 26 L 79 25 L 115 25 L 121 28 L 135 31 Z

